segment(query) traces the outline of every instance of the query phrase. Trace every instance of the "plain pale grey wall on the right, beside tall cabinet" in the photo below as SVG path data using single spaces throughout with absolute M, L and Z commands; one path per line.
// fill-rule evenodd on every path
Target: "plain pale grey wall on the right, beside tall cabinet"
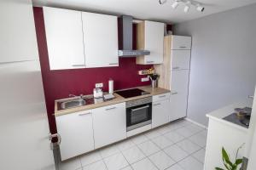
M 207 112 L 253 94 L 256 4 L 177 24 L 173 31 L 192 36 L 190 119 L 207 125 Z

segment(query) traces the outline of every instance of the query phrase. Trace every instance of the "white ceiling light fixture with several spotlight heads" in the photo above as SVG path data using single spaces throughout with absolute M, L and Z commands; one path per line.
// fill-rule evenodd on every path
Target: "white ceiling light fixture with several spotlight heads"
M 159 0 L 160 4 L 164 4 L 166 2 L 167 2 L 167 0 Z M 185 4 L 185 8 L 184 8 L 184 12 L 185 13 L 189 12 L 189 9 L 190 9 L 191 6 L 195 6 L 196 10 L 199 11 L 199 12 L 203 12 L 205 10 L 205 8 L 201 5 L 201 3 L 198 3 L 198 2 L 196 2 L 194 0 L 175 0 L 172 3 L 172 8 L 176 9 L 177 6 L 180 3 L 184 3 Z

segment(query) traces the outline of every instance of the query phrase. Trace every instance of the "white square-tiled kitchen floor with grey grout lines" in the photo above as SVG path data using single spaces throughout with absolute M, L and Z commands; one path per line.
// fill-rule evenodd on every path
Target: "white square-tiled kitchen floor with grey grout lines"
M 61 170 L 202 170 L 207 130 L 185 120 L 61 162 Z

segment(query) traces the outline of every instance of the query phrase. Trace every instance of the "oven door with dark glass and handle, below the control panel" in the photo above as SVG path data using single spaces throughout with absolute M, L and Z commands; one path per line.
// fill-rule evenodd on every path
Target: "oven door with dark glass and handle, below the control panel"
M 126 131 L 143 127 L 152 122 L 152 103 L 126 108 Z

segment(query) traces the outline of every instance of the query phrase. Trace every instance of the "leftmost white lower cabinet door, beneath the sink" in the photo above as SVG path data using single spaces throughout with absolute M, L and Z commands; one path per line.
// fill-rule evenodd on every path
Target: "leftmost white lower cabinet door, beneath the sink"
M 91 111 L 57 116 L 56 124 L 61 135 L 62 161 L 94 150 Z

